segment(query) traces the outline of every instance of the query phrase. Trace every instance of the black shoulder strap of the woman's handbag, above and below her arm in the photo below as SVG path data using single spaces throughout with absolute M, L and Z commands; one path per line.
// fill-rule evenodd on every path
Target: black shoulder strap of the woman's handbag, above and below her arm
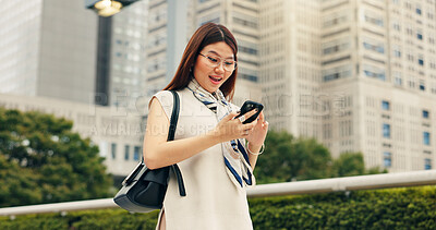
M 172 113 L 171 113 L 171 121 L 170 121 L 170 130 L 168 132 L 168 138 L 167 141 L 173 141 L 174 140 L 174 134 L 175 134 L 175 128 L 177 123 L 179 121 L 179 111 L 180 111 L 180 98 L 179 94 L 174 90 L 170 90 L 172 93 L 173 97 L 173 105 L 172 105 Z M 172 171 L 175 174 L 175 178 L 178 180 L 179 184 L 179 194 L 181 196 L 186 196 L 186 191 L 184 189 L 184 182 L 183 182 L 183 177 L 182 172 L 179 169 L 179 166 L 177 164 L 171 166 Z

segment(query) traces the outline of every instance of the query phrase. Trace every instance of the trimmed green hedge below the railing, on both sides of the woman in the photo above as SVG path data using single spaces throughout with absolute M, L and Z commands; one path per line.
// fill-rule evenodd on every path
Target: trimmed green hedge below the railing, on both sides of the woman
M 255 229 L 436 229 L 436 186 L 250 198 Z M 154 229 L 158 211 L 0 218 L 0 229 Z

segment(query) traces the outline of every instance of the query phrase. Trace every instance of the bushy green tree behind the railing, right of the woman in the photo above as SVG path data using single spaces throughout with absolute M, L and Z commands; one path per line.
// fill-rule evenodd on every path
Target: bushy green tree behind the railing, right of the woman
M 378 168 L 365 170 L 361 153 L 344 153 L 332 159 L 316 140 L 294 138 L 287 132 L 269 131 L 265 146 L 254 171 L 259 184 L 380 173 Z

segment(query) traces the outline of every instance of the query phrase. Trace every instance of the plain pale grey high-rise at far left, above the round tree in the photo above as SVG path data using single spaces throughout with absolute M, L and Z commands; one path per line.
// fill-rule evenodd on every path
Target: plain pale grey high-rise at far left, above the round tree
M 97 15 L 82 1 L 2 1 L 0 93 L 89 102 Z

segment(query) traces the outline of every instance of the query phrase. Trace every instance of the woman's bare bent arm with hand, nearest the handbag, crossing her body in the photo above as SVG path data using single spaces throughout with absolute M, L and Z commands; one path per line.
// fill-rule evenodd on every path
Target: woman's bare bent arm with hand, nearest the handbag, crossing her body
M 213 131 L 206 134 L 167 142 L 169 120 L 162 114 L 165 114 L 164 108 L 156 98 L 153 98 L 143 148 L 144 162 L 149 169 L 180 162 L 221 142 L 244 138 L 247 136 L 245 131 L 252 130 L 255 125 L 255 122 L 242 124 L 238 119 L 233 120 L 238 114 L 233 112 L 225 117 Z

